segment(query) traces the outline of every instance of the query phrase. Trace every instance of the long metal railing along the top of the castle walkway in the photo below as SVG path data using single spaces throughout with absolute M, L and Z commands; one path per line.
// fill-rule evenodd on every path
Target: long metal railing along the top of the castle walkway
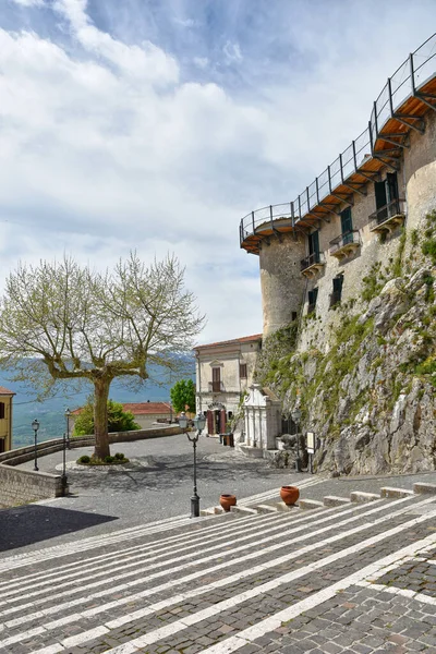
M 352 141 L 339 157 L 327 166 L 293 202 L 269 205 L 251 211 L 240 223 L 240 244 L 254 234 L 261 225 L 277 220 L 289 220 L 294 227 L 315 206 L 319 205 L 331 191 L 359 171 L 365 160 L 374 154 L 374 145 L 385 124 L 393 118 L 396 110 L 428 80 L 436 75 L 436 33 L 424 41 L 396 70 L 378 98 L 374 102 L 368 126 Z

